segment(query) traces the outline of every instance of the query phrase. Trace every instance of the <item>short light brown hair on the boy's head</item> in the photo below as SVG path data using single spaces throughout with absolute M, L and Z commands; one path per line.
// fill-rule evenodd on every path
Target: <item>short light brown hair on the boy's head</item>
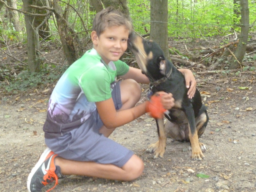
M 108 8 L 101 10 L 95 15 L 92 23 L 92 30 L 96 31 L 97 36 L 100 36 L 100 34 L 107 27 L 121 25 L 124 25 L 125 28 L 129 30 L 129 34 L 132 32 L 132 22 L 129 19 L 127 19 L 123 13 L 109 6 Z

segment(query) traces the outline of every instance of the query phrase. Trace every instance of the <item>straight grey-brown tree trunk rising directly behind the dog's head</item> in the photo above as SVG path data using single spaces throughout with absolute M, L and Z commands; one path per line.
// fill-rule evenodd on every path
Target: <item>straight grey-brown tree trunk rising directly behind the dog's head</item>
M 160 45 L 164 57 L 170 60 L 168 46 L 168 1 L 150 1 L 150 39 Z

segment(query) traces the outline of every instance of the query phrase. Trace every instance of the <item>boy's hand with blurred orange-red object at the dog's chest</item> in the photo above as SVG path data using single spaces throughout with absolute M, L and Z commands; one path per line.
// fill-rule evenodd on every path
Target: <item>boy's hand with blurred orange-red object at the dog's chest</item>
M 154 118 L 163 118 L 164 111 L 174 106 L 174 99 L 171 93 L 157 92 L 152 95 L 146 105 L 146 112 Z

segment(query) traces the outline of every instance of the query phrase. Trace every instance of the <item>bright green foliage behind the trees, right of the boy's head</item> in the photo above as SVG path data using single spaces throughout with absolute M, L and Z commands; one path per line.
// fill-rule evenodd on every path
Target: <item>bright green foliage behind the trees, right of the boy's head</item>
M 150 1 L 130 0 L 128 6 L 135 31 L 140 34 L 150 32 Z M 228 0 L 168 1 L 169 36 L 197 38 L 239 32 L 241 15 L 234 14 L 234 8 L 239 9 L 239 4 L 234 5 L 233 1 Z M 256 4 L 250 0 L 249 9 L 250 23 L 253 23 L 256 19 Z

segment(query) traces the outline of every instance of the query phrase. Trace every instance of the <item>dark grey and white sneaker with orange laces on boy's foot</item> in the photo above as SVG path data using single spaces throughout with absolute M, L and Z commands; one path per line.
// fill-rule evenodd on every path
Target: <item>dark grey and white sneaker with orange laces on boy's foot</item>
M 29 192 L 41 191 L 44 186 L 55 180 L 55 185 L 48 190 L 50 191 L 58 184 L 58 179 L 63 178 L 60 167 L 54 164 L 56 156 L 58 155 L 54 154 L 51 149 L 46 148 L 44 150 L 39 161 L 28 175 L 27 188 Z

